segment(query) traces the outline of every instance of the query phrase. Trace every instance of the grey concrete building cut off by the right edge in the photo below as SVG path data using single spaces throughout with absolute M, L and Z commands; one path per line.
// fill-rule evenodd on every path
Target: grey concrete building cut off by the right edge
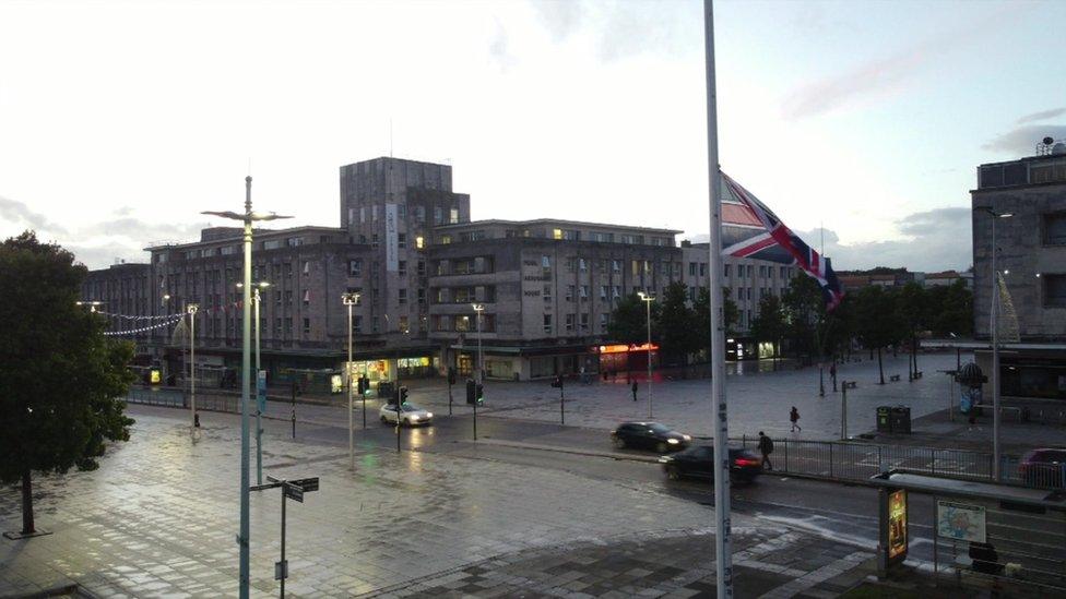
M 1066 146 L 1049 145 L 1045 155 L 978 169 L 978 189 L 970 192 L 974 333 L 991 337 L 995 219 L 996 267 L 1020 342 L 1002 355 L 1003 393 L 1066 399 Z M 979 352 L 979 363 L 987 372 L 986 352 Z

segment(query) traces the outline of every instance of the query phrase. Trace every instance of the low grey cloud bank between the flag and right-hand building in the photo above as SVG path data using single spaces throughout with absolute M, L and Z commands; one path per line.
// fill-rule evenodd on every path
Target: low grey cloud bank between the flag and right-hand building
M 841 243 L 832 229 L 825 230 L 826 255 L 837 271 L 905 266 L 910 271 L 936 273 L 964 269 L 973 262 L 970 209 L 955 206 L 909 214 L 896 221 L 904 239 Z M 821 229 L 795 231 L 815 249 L 821 241 Z M 695 235 L 694 243 L 708 236 Z

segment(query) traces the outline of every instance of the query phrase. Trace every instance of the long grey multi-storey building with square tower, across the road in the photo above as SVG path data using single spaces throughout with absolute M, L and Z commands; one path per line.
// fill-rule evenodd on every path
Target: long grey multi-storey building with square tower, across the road
M 353 308 L 354 370 L 371 380 L 474 370 L 477 321 L 487 375 L 530 379 L 620 369 L 644 348 L 604 352 L 615 302 L 635 291 L 660 295 L 683 281 L 695 299 L 707 286 L 707 244 L 678 247 L 670 229 L 570 220 L 470 220 L 470 196 L 451 189 L 451 167 L 377 158 L 341 167 L 341 226 L 254 231 L 259 328 L 273 380 L 293 369 L 335 371 L 346 359 Z M 732 212 L 730 212 L 732 211 Z M 731 216 L 732 215 L 732 216 Z M 755 229 L 730 205 L 726 239 Z M 204 229 L 199 241 L 155 244 L 149 264 L 90 274 L 84 297 L 137 315 L 129 331 L 142 355 L 179 371 L 183 332 L 165 316 L 198 306 L 197 362 L 215 371 L 240 363 L 241 229 Z M 726 278 L 747 328 L 766 293 L 781 293 L 792 268 L 727 259 Z M 156 320 L 150 320 L 156 319 Z M 131 323 L 138 323 L 133 326 Z M 183 325 L 182 325 L 183 326 Z M 741 346 L 738 357 L 755 355 Z M 620 355 L 615 355 L 620 354 Z

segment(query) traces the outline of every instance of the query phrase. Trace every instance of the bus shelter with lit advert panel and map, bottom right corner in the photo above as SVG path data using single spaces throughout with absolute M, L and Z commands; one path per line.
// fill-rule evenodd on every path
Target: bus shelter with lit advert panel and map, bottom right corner
M 909 494 L 932 499 L 933 572 L 1039 596 L 1066 594 L 1066 492 L 892 470 L 870 478 L 878 488 L 878 574 L 907 559 Z M 927 510 L 927 507 L 925 507 Z

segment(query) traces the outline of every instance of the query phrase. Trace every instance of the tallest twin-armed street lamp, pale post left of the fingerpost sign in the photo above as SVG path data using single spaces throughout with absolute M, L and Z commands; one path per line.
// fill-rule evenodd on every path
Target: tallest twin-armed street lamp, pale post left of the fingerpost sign
M 251 211 L 251 177 L 245 177 L 245 212 L 238 214 L 232 211 L 226 212 L 202 212 L 221 216 L 233 220 L 240 220 L 245 225 L 242 238 L 245 253 L 244 268 L 244 299 L 241 312 L 244 318 L 244 331 L 241 335 L 241 371 L 240 371 L 240 532 L 237 535 L 237 544 L 240 548 L 240 568 L 238 596 L 240 599 L 248 599 L 249 587 L 249 517 L 248 517 L 248 398 L 251 392 L 251 225 L 257 220 L 276 220 L 279 218 L 292 218 L 291 216 L 280 216 L 274 213 L 257 214 Z

